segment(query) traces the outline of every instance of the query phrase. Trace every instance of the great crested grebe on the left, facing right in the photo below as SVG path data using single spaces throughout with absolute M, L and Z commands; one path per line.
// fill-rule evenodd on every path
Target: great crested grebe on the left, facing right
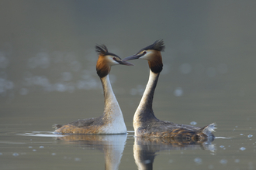
M 105 106 L 104 113 L 100 117 L 73 121 L 69 124 L 55 125 L 56 134 L 126 134 L 126 124 L 123 120 L 122 110 L 113 93 L 109 80 L 111 66 L 123 64 L 133 66 L 116 56 L 109 53 L 105 45 L 95 46 L 99 59 L 96 64 L 97 74 L 102 82 Z

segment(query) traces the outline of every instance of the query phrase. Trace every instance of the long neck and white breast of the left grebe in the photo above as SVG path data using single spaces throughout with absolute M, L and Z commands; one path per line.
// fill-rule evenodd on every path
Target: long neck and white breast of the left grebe
M 112 90 L 109 74 L 101 78 L 105 98 L 103 121 L 106 123 L 107 134 L 125 134 L 126 124 L 123 120 L 122 110 Z

